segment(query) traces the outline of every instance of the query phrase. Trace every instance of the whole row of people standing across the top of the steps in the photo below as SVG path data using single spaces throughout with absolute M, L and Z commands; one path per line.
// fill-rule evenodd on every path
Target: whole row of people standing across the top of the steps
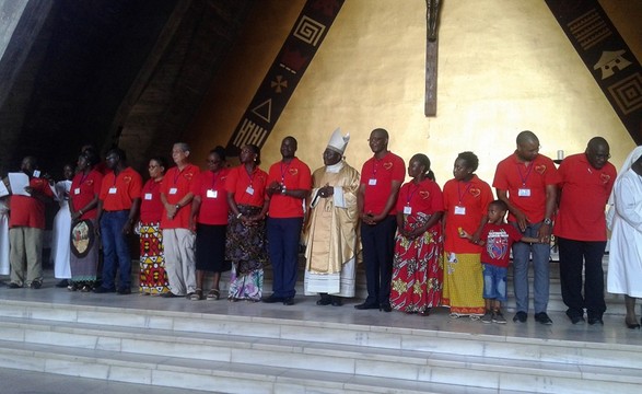
M 637 172 L 642 169 L 640 149 L 625 164 L 621 181 L 616 181 L 604 138 L 591 139 L 585 152 L 565 158 L 557 169 L 551 159 L 539 154 L 537 136 L 522 131 L 515 152 L 497 166 L 494 199 L 491 186 L 475 174 L 479 165 L 475 153 L 457 155 L 454 177 L 442 190 L 422 153 L 410 159 L 411 181 L 404 183 L 404 159 L 388 150 L 388 141 L 385 129 L 371 132 L 373 157 L 361 173 L 345 160 L 349 136 L 340 129 L 323 153 L 324 166 L 314 173 L 296 158 L 297 142 L 291 136 L 282 140 L 282 159 L 268 172 L 260 169 L 257 146 L 244 146 L 241 164 L 232 169 L 225 150 L 217 147 L 208 154 L 207 171 L 201 172 L 189 162 L 189 147 L 179 142 L 172 150 L 175 166 L 168 169 L 162 158 L 151 159 L 144 185 L 119 149 L 107 152 L 101 163 L 94 149 L 83 148 L 75 174 L 66 167 L 68 179 L 56 187 L 35 176 L 35 159 L 25 158 L 21 170 L 30 176 L 31 196 L 14 195 L 9 206 L 9 286 L 42 286 L 39 257 L 34 257 L 42 247 L 42 234 L 33 235 L 32 229 L 42 232 L 44 204 L 57 195 L 63 196 L 59 197 L 60 215 L 68 211 L 70 223 L 56 225 L 70 235 L 70 290 L 130 293 L 126 235 L 136 231 L 143 294 L 218 300 L 221 273 L 231 269 L 230 301 L 292 305 L 300 245 L 304 244 L 304 291 L 319 294 L 318 305 L 340 306 L 342 299 L 354 297 L 362 251 L 367 298 L 355 309 L 428 315 L 432 308 L 447 306 L 453 317 L 505 323 L 501 305 L 507 299 L 512 250 L 513 321 L 527 321 L 532 260 L 534 317 L 548 325 L 552 323 L 547 306 L 555 234 L 567 315 L 573 324 L 585 321 L 584 313 L 588 324 L 603 324 L 602 258 L 610 196 L 614 235 L 608 286 L 611 292 L 627 294 L 627 325 L 640 326 L 633 308 L 640 297 L 641 258 L 639 243 L 631 242 L 632 234 L 642 231 L 640 194 L 632 190 L 640 184 L 635 175 L 642 174 Z M 100 286 L 98 244 L 104 256 Z M 56 262 L 57 275 L 63 276 Z M 272 268 L 272 293 L 264 298 L 267 265 Z M 206 293 L 208 271 L 213 274 Z

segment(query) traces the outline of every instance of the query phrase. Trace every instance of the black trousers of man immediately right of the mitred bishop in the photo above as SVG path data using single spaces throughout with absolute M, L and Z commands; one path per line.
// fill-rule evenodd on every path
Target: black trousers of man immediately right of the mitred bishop
M 365 302 L 369 304 L 390 302 L 395 231 L 397 231 L 397 218 L 393 215 L 375 225 L 362 224 L 361 227 L 361 244 L 367 282 Z

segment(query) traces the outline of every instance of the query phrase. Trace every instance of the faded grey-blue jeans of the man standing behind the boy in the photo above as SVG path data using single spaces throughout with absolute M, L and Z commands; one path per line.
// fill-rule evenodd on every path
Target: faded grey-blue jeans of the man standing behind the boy
M 517 231 L 520 227 L 516 222 L 511 222 Z M 529 224 L 526 231 L 522 232 L 523 236 L 537 237 L 537 232 L 541 222 Z M 533 253 L 533 271 L 535 275 L 533 281 L 534 289 L 534 309 L 535 313 L 546 312 L 548 306 L 549 294 L 549 244 L 533 244 L 515 242 L 513 244 L 513 286 L 515 289 L 516 311 L 528 313 L 528 260 Z

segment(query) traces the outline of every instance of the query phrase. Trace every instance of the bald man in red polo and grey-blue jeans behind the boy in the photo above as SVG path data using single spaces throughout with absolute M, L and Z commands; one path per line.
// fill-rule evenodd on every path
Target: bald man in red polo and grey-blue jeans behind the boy
M 513 244 L 513 286 L 517 313 L 513 322 L 528 317 L 528 260 L 533 254 L 535 321 L 552 324 L 546 313 L 549 297 L 549 258 L 552 216 L 559 182 L 555 163 L 539 154 L 539 139 L 533 131 L 517 135 L 517 149 L 502 160 L 495 171 L 493 187 L 498 198 L 509 206 L 509 222 L 524 236 L 537 237 L 539 244 Z

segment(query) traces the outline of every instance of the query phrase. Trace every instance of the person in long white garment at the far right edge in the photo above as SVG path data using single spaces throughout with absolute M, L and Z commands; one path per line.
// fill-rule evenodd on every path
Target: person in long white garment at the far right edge
M 642 147 L 625 161 L 609 198 L 607 224 L 611 230 L 607 290 L 623 294 L 625 324 L 640 329 L 635 299 L 642 298 Z

